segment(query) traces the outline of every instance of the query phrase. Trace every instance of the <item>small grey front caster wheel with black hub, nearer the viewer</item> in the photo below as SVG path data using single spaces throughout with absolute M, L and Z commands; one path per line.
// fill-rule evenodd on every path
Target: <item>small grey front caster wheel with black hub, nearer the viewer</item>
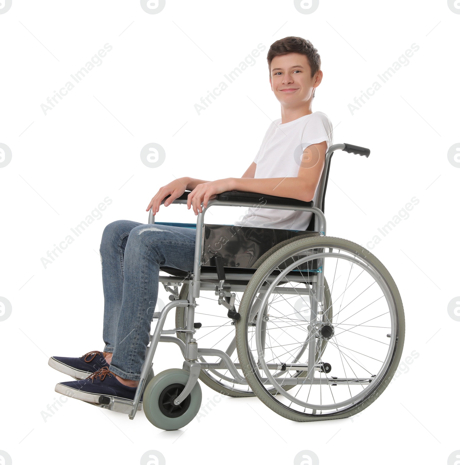
M 201 388 L 197 383 L 180 405 L 173 401 L 184 390 L 190 373 L 171 368 L 158 373 L 144 391 L 144 413 L 152 425 L 163 430 L 177 430 L 188 425 L 201 407 Z

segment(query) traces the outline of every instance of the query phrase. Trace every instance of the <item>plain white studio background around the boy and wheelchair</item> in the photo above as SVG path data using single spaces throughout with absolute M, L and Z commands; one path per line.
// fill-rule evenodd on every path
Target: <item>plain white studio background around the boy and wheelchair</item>
M 447 158 L 460 142 L 459 27 L 460 14 L 444 0 L 320 0 L 311 14 L 275 0 L 167 0 L 158 14 L 134 0 L 13 0 L 0 14 L 0 142 L 12 151 L 0 168 L 0 296 L 12 304 L 0 321 L 0 450 L 13 464 L 139 464 L 151 449 L 167 464 L 292 464 L 304 449 L 321 465 L 446 463 L 460 449 L 460 322 L 447 312 L 460 294 L 460 169 Z M 388 268 L 405 307 L 402 361 L 413 351 L 419 357 L 348 419 L 296 423 L 257 398 L 223 398 L 200 421 L 164 432 L 143 412 L 131 421 L 69 399 L 45 421 L 54 385 L 68 380 L 48 357 L 103 348 L 104 227 L 147 223 L 149 200 L 174 177 L 244 173 L 280 118 L 266 56 L 286 36 L 311 40 L 320 53 L 313 111 L 328 115 L 334 142 L 371 149 L 368 159 L 334 154 L 327 235 L 366 246 Z M 113 49 L 102 64 L 45 115 L 40 105 L 107 43 Z M 409 64 L 352 115 L 353 98 L 381 83 L 377 74 L 414 43 L 420 50 Z M 194 104 L 258 44 L 266 49 L 255 65 L 198 115 Z M 166 151 L 154 169 L 140 160 L 150 142 Z M 45 268 L 40 259 L 107 196 L 113 202 L 102 217 Z M 409 217 L 373 245 L 377 228 L 413 197 L 420 202 Z M 244 213 L 223 209 L 212 222 Z M 161 207 L 156 219 L 195 221 L 184 206 Z M 167 301 L 164 290 L 160 298 Z M 155 372 L 180 367 L 177 352 L 160 345 Z M 201 388 L 206 403 L 214 392 Z

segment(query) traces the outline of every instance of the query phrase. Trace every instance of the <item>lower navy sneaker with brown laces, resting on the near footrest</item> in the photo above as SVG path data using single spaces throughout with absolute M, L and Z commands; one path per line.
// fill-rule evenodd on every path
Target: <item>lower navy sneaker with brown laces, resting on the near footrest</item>
M 74 399 L 84 400 L 91 404 L 101 404 L 101 396 L 110 396 L 121 400 L 134 400 L 135 387 L 125 386 L 115 378 L 106 366 L 94 372 L 87 379 L 58 383 L 54 391 Z M 142 398 L 140 399 L 142 401 Z

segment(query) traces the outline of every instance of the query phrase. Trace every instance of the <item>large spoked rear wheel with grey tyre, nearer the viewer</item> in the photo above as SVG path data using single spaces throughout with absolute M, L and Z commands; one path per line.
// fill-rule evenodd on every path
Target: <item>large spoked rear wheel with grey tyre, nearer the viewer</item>
M 310 303 L 308 318 L 295 299 Z M 346 239 L 301 238 L 280 248 L 254 273 L 239 312 L 236 345 L 247 382 L 295 421 L 366 408 L 392 379 L 404 344 L 396 284 L 371 252 Z

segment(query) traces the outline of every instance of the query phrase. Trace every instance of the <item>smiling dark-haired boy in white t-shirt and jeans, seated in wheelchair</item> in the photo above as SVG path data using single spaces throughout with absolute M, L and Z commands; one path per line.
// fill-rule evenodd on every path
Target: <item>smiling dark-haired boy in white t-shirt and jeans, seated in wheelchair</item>
M 309 40 L 285 37 L 267 54 L 270 86 L 281 104 L 281 118 L 270 124 L 259 152 L 241 178 L 205 181 L 175 179 L 160 188 L 147 206 L 153 214 L 186 190 L 187 208 L 195 215 L 209 199 L 226 191 L 276 195 L 316 201 L 325 154 L 332 144 L 332 125 L 312 112 L 315 89 L 323 73 Z M 311 212 L 250 208 L 236 226 L 306 230 Z M 152 227 L 153 226 L 153 227 Z M 106 226 L 100 256 L 104 291 L 104 351 L 80 358 L 51 357 L 48 364 L 77 381 L 56 385 L 56 392 L 97 403 L 101 395 L 133 399 L 150 337 L 158 296 L 160 266 L 193 270 L 195 230 L 143 225 L 119 220 Z

